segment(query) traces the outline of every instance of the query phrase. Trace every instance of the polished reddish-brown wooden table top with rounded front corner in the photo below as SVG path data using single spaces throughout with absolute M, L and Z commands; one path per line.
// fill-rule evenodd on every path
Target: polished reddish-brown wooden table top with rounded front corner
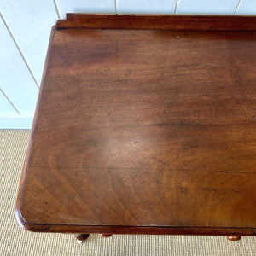
M 26 229 L 255 234 L 256 32 L 157 17 L 53 27 L 16 207 Z

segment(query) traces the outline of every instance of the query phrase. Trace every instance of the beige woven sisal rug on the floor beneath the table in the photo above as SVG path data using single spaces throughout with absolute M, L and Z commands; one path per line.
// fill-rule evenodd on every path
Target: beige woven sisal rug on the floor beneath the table
M 256 237 L 73 235 L 32 233 L 15 220 L 15 200 L 30 131 L 0 130 L 0 255 L 256 255 Z

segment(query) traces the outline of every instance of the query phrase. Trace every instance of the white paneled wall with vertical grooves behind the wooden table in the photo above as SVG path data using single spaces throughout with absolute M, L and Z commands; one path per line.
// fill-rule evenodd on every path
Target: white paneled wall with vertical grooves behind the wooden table
M 50 29 L 67 12 L 256 15 L 256 0 L 0 0 L 0 129 L 31 128 Z

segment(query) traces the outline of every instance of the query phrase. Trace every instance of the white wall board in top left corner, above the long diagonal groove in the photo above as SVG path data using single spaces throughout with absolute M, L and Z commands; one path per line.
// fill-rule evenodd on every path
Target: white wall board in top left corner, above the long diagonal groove
M 49 28 L 58 20 L 54 2 L 0 0 L 0 10 L 37 84 L 40 84 Z

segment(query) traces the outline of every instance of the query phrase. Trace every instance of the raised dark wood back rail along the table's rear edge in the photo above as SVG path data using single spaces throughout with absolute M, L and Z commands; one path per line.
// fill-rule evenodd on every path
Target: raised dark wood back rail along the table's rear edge
M 58 29 L 161 29 L 255 31 L 256 16 L 227 15 L 89 15 L 67 14 L 56 22 Z

